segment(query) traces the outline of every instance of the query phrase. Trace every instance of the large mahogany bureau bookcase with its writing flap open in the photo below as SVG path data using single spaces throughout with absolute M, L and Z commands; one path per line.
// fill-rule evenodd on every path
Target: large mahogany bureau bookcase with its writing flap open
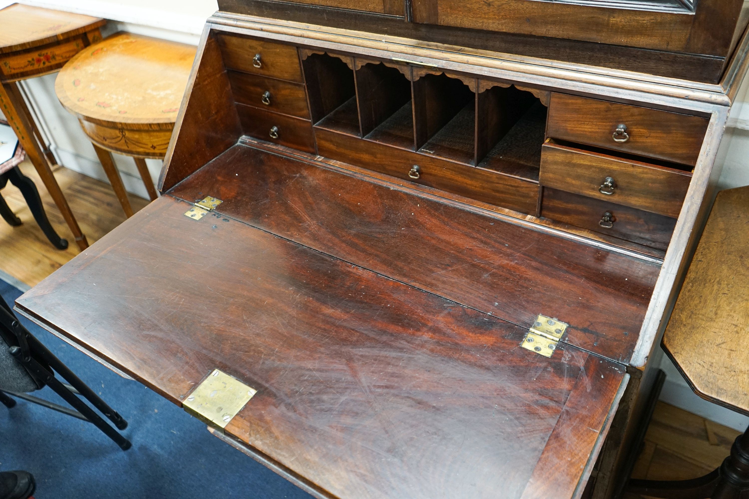
M 317 498 L 618 495 L 743 2 L 219 7 L 164 195 L 16 310 Z

